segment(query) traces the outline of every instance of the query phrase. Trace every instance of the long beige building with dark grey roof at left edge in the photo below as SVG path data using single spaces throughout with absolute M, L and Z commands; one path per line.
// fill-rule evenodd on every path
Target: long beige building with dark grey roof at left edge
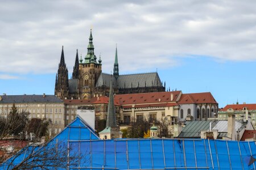
M 64 129 L 64 102 L 55 95 L 2 95 L 0 96 L 0 115 L 7 116 L 13 104 L 19 113 L 30 113 L 29 118 L 48 120 L 49 135 L 57 134 Z

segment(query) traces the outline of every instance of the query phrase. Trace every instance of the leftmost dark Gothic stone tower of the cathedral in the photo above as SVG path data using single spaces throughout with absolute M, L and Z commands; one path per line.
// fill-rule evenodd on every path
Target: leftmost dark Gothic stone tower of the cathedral
M 60 99 L 68 97 L 68 68 L 65 63 L 64 51 L 62 46 L 59 69 L 55 80 L 55 93 Z

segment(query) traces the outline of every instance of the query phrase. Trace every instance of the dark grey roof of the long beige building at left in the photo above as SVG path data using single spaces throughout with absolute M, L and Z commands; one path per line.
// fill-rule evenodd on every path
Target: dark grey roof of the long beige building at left
M 55 95 L 3 95 L 1 103 L 63 103 Z

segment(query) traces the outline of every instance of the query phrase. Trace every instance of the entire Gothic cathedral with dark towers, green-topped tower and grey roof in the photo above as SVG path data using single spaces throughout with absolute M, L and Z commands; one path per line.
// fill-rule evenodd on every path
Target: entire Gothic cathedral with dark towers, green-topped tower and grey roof
M 84 59 L 82 57 L 79 59 L 78 52 L 76 52 L 72 78 L 68 79 L 68 69 L 62 47 L 59 69 L 56 74 L 55 95 L 60 99 L 90 99 L 94 96 L 109 96 L 110 80 L 112 80 L 114 94 L 160 92 L 166 89 L 166 83 L 163 86 L 158 73 L 119 75 L 117 48 L 115 48 L 113 76 L 102 73 L 101 62 L 101 57 L 97 61 L 94 54 L 91 29 L 87 54 Z

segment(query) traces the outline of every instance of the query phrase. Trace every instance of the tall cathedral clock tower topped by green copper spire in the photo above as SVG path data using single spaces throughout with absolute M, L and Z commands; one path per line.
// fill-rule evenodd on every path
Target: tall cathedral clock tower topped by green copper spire
M 92 29 L 90 29 L 89 44 L 84 62 L 80 59 L 79 63 L 79 86 L 78 92 L 80 99 L 89 99 L 93 97 L 93 91 L 98 77 L 101 74 L 101 58 L 97 62 L 94 54 Z

